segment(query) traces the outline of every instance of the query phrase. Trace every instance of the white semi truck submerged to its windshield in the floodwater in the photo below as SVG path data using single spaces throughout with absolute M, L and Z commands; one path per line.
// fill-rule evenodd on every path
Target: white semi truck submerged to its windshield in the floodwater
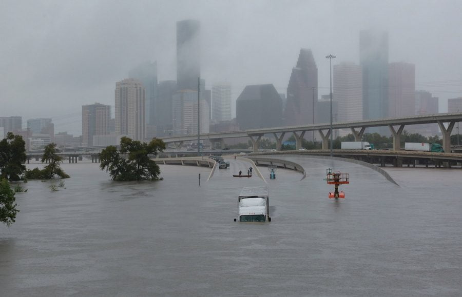
M 238 198 L 237 219 L 239 222 L 271 222 L 268 187 L 242 188 Z

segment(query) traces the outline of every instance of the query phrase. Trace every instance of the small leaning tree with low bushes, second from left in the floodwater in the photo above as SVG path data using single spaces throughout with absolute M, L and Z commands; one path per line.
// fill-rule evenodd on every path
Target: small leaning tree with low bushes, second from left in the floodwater
M 28 180 L 51 180 L 55 175 L 61 177 L 61 179 L 68 179 L 70 176 L 66 174 L 60 167 L 60 163 L 63 158 L 57 155 L 59 150 L 56 148 L 56 144 L 50 143 L 45 146 L 45 150 L 42 156 L 42 163 L 49 163 L 44 169 L 38 168 L 29 169 L 25 173 L 25 177 Z

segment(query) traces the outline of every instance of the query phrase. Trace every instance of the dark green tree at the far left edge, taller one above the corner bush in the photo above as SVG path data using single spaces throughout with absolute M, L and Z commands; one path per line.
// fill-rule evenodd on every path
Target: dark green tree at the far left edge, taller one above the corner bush
M 8 132 L 0 141 L 0 179 L 19 181 L 26 171 L 26 143 L 21 135 Z

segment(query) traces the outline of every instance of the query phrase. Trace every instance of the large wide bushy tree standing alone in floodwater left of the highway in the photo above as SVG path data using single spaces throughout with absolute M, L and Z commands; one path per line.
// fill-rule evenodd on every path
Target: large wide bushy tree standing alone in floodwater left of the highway
M 160 169 L 149 155 L 164 149 L 165 143 L 157 138 L 142 143 L 122 137 L 119 152 L 115 146 L 108 146 L 100 153 L 100 168 L 106 169 L 114 181 L 157 181 Z

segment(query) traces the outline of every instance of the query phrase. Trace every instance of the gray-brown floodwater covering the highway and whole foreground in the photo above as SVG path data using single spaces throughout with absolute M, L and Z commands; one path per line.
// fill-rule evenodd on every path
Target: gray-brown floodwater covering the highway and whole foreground
M 255 169 L 232 177 L 242 160 L 209 181 L 204 167 L 113 182 L 63 164 L 64 187 L 29 181 L 16 223 L 0 225 L 0 295 L 461 295 L 461 169 L 387 168 L 396 186 L 349 162 L 291 160 L 305 179 L 260 167 L 271 223 L 233 221 L 242 187 L 266 185 Z M 350 173 L 346 199 L 328 199 L 326 168 Z

